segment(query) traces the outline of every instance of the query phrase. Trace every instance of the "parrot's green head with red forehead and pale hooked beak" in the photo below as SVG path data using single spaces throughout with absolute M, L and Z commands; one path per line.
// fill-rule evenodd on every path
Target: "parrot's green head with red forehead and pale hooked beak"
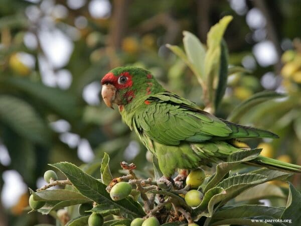
M 163 87 L 147 70 L 137 67 L 117 67 L 101 80 L 101 95 L 108 107 L 119 106 L 146 99 L 149 95 L 163 91 Z

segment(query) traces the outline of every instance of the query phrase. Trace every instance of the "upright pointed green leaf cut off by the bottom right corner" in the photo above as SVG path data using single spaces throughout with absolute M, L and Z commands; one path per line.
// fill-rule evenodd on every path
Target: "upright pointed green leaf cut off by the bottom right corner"
M 286 208 L 281 215 L 281 219 L 290 219 L 289 225 L 298 226 L 301 222 L 301 194 L 289 183 L 289 192 Z

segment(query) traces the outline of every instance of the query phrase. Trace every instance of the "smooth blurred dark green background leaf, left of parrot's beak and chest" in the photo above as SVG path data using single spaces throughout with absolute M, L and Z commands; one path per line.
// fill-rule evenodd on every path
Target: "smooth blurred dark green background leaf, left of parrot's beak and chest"
M 79 114 L 77 97 L 67 91 L 16 77 L 9 77 L 1 82 L 41 100 L 42 104 L 45 103 L 62 117 L 75 119 Z

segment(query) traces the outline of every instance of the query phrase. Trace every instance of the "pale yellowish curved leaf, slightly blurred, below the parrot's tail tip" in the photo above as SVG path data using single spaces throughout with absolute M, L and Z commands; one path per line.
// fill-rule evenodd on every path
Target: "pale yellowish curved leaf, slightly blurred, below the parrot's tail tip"
M 283 191 L 276 185 L 273 184 L 259 184 L 252 187 L 235 197 L 235 201 L 246 201 L 252 199 L 263 199 L 267 197 L 280 197 L 285 198 Z

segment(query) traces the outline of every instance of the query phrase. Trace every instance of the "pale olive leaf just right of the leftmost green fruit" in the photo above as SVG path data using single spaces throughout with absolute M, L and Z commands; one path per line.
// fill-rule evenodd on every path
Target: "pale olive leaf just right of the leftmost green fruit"
M 85 200 L 91 201 L 87 197 L 83 196 L 81 193 L 65 190 L 65 189 L 55 189 L 55 190 L 43 190 L 34 192 L 30 189 L 31 193 L 34 196 L 35 201 L 53 201 L 53 200 Z

